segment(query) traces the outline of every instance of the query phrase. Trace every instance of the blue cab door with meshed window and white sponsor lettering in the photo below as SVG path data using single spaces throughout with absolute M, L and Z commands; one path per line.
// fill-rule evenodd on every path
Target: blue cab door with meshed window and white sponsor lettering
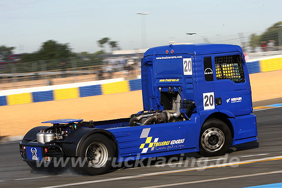
M 246 62 L 239 53 L 211 56 L 213 70 L 205 70 L 205 76 L 213 72 L 215 107 L 219 112 L 229 111 L 235 116 L 252 112 L 249 74 Z

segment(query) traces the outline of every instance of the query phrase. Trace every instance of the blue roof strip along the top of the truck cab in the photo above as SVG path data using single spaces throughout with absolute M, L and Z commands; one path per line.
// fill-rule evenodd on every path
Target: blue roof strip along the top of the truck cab
M 166 51 L 168 50 L 168 53 Z M 171 53 L 173 50 L 173 53 Z M 148 55 L 171 55 L 171 54 L 191 54 L 204 55 L 224 52 L 242 52 L 241 47 L 237 45 L 223 44 L 193 44 L 193 45 L 167 45 L 148 49 L 144 57 Z

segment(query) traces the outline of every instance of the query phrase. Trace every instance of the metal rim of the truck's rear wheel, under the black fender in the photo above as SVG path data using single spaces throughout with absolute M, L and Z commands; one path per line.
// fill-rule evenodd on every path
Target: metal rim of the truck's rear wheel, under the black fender
M 93 168 L 101 168 L 108 160 L 108 150 L 101 142 L 91 143 L 85 153 L 88 164 Z

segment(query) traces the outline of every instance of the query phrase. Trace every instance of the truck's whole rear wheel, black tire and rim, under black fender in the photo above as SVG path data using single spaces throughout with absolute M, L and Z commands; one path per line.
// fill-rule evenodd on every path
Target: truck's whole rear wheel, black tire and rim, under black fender
M 72 160 L 68 164 L 69 168 L 79 174 L 100 175 L 110 170 L 114 156 L 115 145 L 113 141 L 102 134 L 92 134 L 83 141 L 78 158 L 73 160 L 80 159 L 83 165 L 74 166 Z

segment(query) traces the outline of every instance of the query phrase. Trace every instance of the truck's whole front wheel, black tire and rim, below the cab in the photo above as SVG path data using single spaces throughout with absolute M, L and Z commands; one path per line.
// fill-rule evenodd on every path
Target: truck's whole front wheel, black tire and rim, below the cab
M 212 157 L 224 155 L 231 145 L 232 136 L 227 124 L 211 118 L 204 123 L 199 138 L 200 155 Z

